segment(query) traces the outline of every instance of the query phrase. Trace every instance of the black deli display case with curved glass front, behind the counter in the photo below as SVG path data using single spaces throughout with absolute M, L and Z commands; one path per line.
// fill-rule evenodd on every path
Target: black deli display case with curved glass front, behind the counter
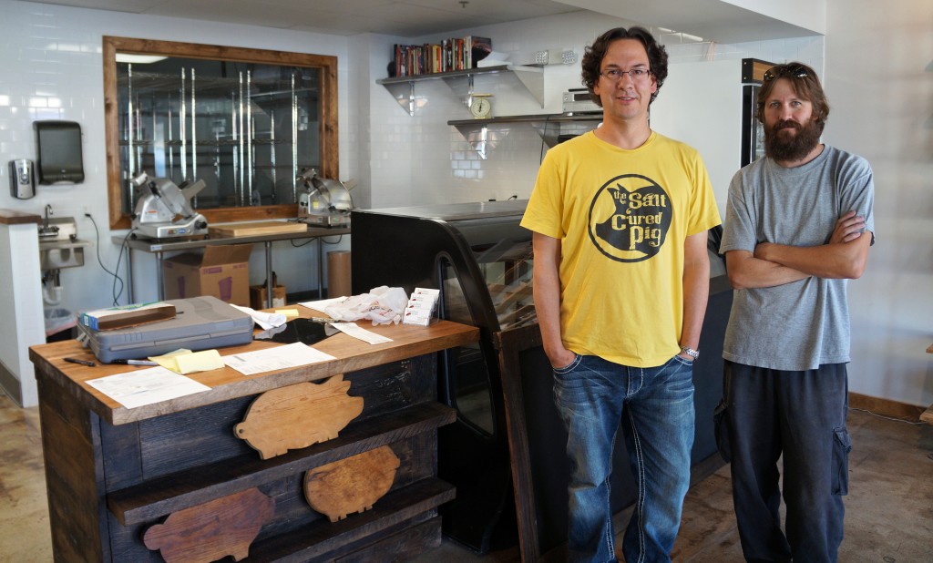
M 439 429 L 439 476 L 457 487 L 444 532 L 485 553 L 516 541 L 501 378 L 492 335 L 536 323 L 526 200 L 354 211 L 353 294 L 381 285 L 440 290 L 439 316 L 480 327 L 480 342 L 444 353 L 441 402 L 457 421 Z

